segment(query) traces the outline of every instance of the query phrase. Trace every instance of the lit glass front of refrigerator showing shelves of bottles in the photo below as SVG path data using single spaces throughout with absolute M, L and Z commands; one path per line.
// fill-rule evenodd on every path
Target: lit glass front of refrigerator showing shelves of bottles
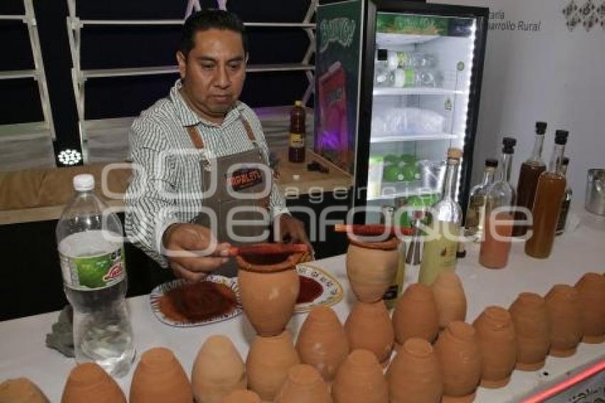
M 438 200 L 448 147 L 467 133 L 476 20 L 379 11 L 375 26 L 368 223 Z

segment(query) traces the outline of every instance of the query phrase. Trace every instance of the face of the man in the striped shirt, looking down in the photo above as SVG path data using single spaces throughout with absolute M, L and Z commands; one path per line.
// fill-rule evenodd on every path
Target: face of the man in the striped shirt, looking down
M 188 56 L 177 52 L 183 87 L 194 109 L 220 124 L 238 100 L 246 78 L 241 34 L 211 28 L 198 31 L 194 43 Z

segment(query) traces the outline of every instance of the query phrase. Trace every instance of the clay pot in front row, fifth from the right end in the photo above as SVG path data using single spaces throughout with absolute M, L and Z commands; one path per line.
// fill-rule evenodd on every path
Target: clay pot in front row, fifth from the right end
M 472 402 L 481 380 L 481 350 L 475 328 L 454 320 L 439 334 L 435 351 L 443 371 L 443 400 Z

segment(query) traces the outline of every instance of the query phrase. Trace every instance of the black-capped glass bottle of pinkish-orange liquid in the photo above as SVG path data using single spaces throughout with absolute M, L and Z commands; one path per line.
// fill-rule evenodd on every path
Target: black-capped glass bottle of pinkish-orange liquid
M 508 263 L 515 188 L 510 184 L 510 167 L 517 140 L 504 137 L 498 179 L 485 195 L 485 226 L 479 251 L 479 263 L 487 268 L 503 268 Z

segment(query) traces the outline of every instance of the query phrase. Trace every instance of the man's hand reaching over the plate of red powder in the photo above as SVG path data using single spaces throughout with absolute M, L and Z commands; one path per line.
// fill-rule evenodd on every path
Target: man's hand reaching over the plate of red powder
M 209 249 L 213 241 L 216 243 L 214 234 L 205 226 L 188 223 L 168 226 L 162 243 L 174 275 L 190 281 L 201 281 L 209 272 L 226 263 L 227 249 L 231 246 L 226 242 L 216 244 L 216 249 L 208 251 L 207 256 L 200 254 Z M 177 252 L 179 256 L 171 256 L 170 252 Z

